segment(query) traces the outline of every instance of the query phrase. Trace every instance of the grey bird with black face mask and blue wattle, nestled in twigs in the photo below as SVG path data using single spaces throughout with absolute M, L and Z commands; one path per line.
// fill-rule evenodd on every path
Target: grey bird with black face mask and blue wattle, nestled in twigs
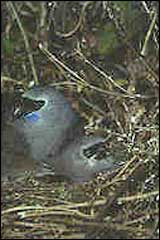
M 17 106 L 8 99 L 2 97 L 2 179 L 31 170 L 85 182 L 117 167 L 105 138 L 85 135 L 84 121 L 54 87 L 32 87 Z

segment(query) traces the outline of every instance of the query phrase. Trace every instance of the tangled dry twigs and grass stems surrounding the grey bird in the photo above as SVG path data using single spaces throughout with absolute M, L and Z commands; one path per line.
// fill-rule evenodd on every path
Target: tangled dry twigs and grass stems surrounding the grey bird
M 2 239 L 159 239 L 158 5 L 2 2 L 2 91 L 55 85 L 125 153 L 87 183 L 3 183 Z

